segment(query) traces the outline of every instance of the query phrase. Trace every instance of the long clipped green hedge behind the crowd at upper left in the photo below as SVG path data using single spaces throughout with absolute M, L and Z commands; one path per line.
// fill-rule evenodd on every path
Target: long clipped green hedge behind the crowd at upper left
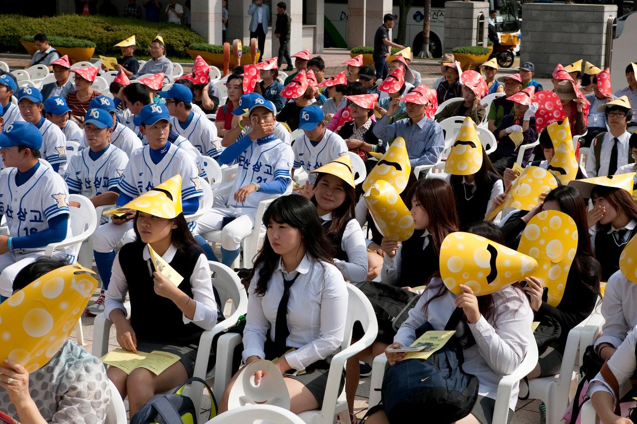
M 205 39 L 185 25 L 168 22 L 146 22 L 129 18 L 103 16 L 60 15 L 57 17 L 31 18 L 22 15 L 0 15 L 0 51 L 25 53 L 20 39 L 28 34 L 43 32 L 52 36 L 87 39 L 95 43 L 96 55 L 121 54 L 113 45 L 135 34 L 136 52 L 150 55 L 150 42 L 161 32 L 166 42 L 169 59 L 189 57 L 186 47 L 192 43 L 203 43 Z M 54 43 L 52 45 L 55 46 Z

